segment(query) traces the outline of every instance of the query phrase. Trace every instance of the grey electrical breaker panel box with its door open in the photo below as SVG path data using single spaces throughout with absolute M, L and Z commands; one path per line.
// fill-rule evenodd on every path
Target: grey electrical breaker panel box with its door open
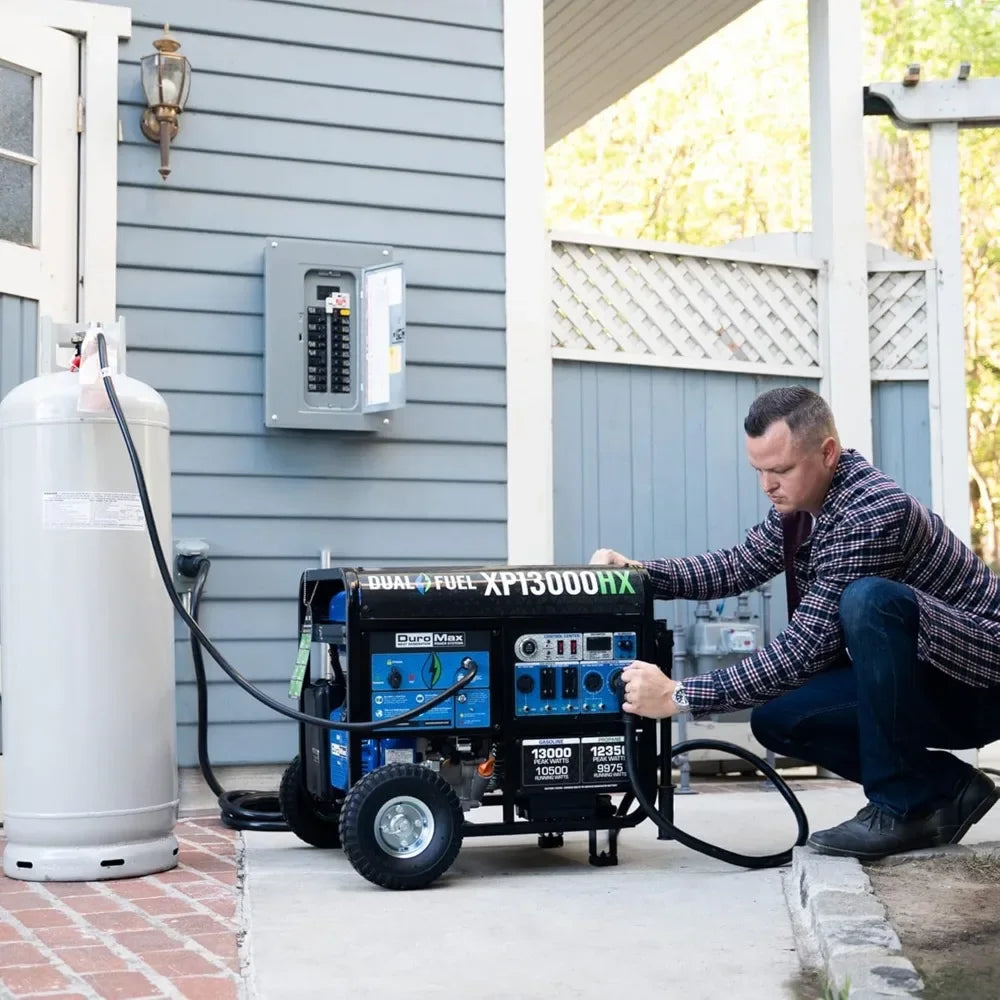
M 269 239 L 264 423 L 377 431 L 406 402 L 406 287 L 390 247 Z

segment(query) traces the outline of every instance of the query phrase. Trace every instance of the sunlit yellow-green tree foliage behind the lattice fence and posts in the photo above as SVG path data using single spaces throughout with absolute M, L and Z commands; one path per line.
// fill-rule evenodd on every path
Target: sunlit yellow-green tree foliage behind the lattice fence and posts
M 865 0 L 864 78 L 1000 76 L 1000 0 Z M 933 255 L 927 136 L 865 120 L 872 242 Z M 1000 131 L 961 137 L 974 544 L 1000 557 Z M 762 0 L 547 154 L 552 229 L 713 246 L 807 231 L 805 0 Z

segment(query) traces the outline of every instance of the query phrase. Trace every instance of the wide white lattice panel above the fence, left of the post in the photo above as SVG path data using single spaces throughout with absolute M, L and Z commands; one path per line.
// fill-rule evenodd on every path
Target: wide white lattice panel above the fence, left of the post
M 809 268 L 552 243 L 552 346 L 775 369 L 819 365 Z

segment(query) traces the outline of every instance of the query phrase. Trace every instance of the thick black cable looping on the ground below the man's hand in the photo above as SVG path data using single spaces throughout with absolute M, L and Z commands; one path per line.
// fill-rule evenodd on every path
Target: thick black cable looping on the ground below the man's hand
M 752 854 L 737 854 L 735 851 L 727 851 L 724 847 L 718 847 L 705 840 L 692 837 L 691 834 L 679 830 L 669 820 L 664 819 L 659 814 L 655 805 L 649 801 L 649 797 L 642 790 L 642 782 L 639 780 L 639 769 L 635 762 L 635 716 L 631 713 L 624 713 L 625 716 L 625 769 L 628 772 L 628 780 L 632 785 L 636 801 L 642 807 L 643 812 L 668 836 L 680 842 L 685 847 L 690 847 L 693 851 L 707 854 L 709 857 L 725 861 L 726 864 L 736 865 L 739 868 L 779 868 L 787 865 L 792 860 L 792 848 L 782 851 L 780 854 L 768 854 L 764 856 L 754 856 Z M 798 838 L 795 847 L 801 847 L 809 839 L 809 820 L 806 818 L 802 804 L 795 797 L 795 793 L 788 787 L 784 779 L 766 761 L 761 760 L 755 753 L 736 746 L 735 743 L 727 743 L 725 740 L 686 740 L 678 743 L 672 748 L 671 759 L 690 750 L 722 750 L 730 753 L 734 757 L 740 757 L 754 767 L 759 768 L 764 776 L 781 792 L 781 797 L 788 803 L 795 815 L 795 822 L 799 827 Z

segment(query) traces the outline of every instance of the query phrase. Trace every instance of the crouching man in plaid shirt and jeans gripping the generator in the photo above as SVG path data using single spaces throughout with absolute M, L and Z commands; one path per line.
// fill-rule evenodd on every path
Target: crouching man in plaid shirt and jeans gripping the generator
M 641 566 L 658 598 L 711 600 L 783 570 L 789 623 L 742 662 L 683 684 L 640 661 L 626 711 L 665 718 L 754 707 L 765 747 L 860 783 L 868 804 L 813 833 L 824 854 L 875 859 L 958 843 L 998 798 L 989 775 L 944 749 L 1000 739 L 1000 578 L 860 454 L 802 387 L 759 396 L 744 421 L 772 507 L 746 540 Z

